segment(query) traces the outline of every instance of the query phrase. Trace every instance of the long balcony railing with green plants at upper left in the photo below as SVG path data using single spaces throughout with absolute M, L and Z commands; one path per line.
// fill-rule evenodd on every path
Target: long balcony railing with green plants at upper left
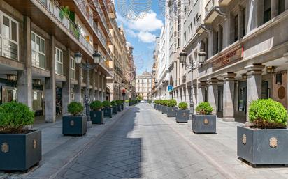
M 49 11 L 52 15 L 54 15 L 59 22 L 62 22 L 62 24 L 66 27 L 66 29 L 69 29 L 69 31 L 73 34 L 75 38 L 78 39 L 78 41 L 90 52 L 92 52 L 93 46 L 85 40 L 85 38 L 80 34 L 80 31 L 78 28 L 76 28 L 76 24 L 72 22 L 69 17 L 66 17 L 66 15 L 63 14 L 63 17 L 60 17 L 61 8 L 58 4 L 55 3 L 55 1 L 40 1 Z

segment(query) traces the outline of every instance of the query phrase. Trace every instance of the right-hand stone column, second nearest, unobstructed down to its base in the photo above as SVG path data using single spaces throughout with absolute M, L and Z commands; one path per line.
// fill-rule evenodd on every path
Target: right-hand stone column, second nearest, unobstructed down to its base
M 223 121 L 233 122 L 234 118 L 234 84 L 236 73 L 228 72 L 223 75 Z

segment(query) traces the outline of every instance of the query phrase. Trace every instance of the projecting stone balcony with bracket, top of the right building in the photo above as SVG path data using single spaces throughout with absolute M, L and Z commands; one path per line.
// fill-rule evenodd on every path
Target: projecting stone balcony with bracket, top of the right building
M 204 22 L 206 24 L 211 24 L 213 20 L 219 15 L 225 16 L 225 9 L 223 6 L 219 6 L 217 0 L 210 0 L 205 6 L 205 18 Z

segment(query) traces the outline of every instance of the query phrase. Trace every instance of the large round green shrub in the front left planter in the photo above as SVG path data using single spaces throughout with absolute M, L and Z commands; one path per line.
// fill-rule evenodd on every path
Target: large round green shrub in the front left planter
M 20 102 L 7 102 L 0 106 L 0 133 L 21 133 L 25 125 L 34 123 L 34 111 Z

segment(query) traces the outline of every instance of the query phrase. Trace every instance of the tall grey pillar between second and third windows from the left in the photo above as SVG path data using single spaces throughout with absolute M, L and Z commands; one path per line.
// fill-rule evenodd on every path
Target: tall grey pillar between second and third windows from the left
M 56 116 L 55 37 L 50 38 L 50 77 L 45 77 L 45 122 L 54 123 Z

